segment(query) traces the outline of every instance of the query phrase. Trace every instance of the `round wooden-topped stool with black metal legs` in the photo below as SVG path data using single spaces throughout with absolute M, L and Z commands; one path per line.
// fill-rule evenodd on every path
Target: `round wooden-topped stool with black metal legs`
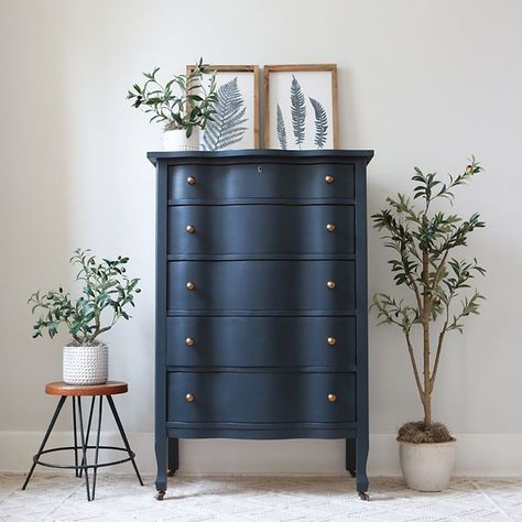
M 45 387 L 45 393 L 48 395 L 59 395 L 59 401 L 54 411 L 53 417 L 51 418 L 51 424 L 47 427 L 47 432 L 42 441 L 39 452 L 33 457 L 33 465 L 31 466 L 31 470 L 28 474 L 25 482 L 22 486 L 22 489 L 25 489 L 28 486 L 34 468 L 39 464 L 40 466 L 46 466 L 50 468 L 62 468 L 62 469 L 74 469 L 76 477 L 81 477 L 85 472 L 85 487 L 87 490 L 87 500 L 94 500 L 96 493 L 96 478 L 98 468 L 107 467 L 107 466 L 115 466 L 117 464 L 131 461 L 132 467 L 134 468 L 135 475 L 140 485 L 143 486 L 143 480 L 141 479 L 140 472 L 138 471 L 138 466 L 135 465 L 134 452 L 131 450 L 129 441 L 127 439 L 126 432 L 123 429 L 123 425 L 121 424 L 120 417 L 118 415 L 118 411 L 116 410 L 115 401 L 112 400 L 112 395 L 117 395 L 120 393 L 127 393 L 128 385 L 127 382 L 117 382 L 117 381 L 108 381 L 106 384 L 94 384 L 94 385 L 72 385 L 66 384 L 65 382 L 50 382 Z M 45 449 L 45 445 L 47 444 L 47 439 L 53 431 L 53 427 L 58 418 L 59 412 L 68 396 L 73 398 L 73 431 L 74 431 L 74 446 L 64 446 L 57 448 L 50 448 Z M 87 424 L 85 426 L 84 423 L 84 414 L 81 411 L 81 398 L 83 396 L 91 396 L 90 401 L 90 411 Z M 124 447 L 116 447 L 116 446 L 101 446 L 100 445 L 100 432 L 101 432 L 101 415 L 102 415 L 102 407 L 104 401 L 102 399 L 107 398 L 107 402 L 109 403 L 110 411 L 112 412 L 112 416 L 115 417 L 116 424 L 118 426 L 118 431 L 120 432 L 121 439 L 123 442 Z M 89 446 L 89 435 L 90 435 L 90 427 L 93 424 L 93 413 L 95 410 L 95 402 L 96 398 L 98 398 L 98 431 L 96 434 L 96 445 Z M 78 423 L 79 423 L 79 436 L 80 436 L 80 445 L 78 445 Z M 86 429 L 84 429 L 84 426 Z M 65 452 L 65 450 L 74 450 L 74 459 L 75 464 L 73 465 L 63 465 L 63 464 L 50 464 L 41 460 L 42 455 L 47 453 L 55 453 L 55 452 Z M 87 461 L 87 449 L 95 450 L 94 464 L 88 464 Z M 98 454 L 100 449 L 112 449 L 117 452 L 124 452 L 127 454 L 126 458 L 120 460 L 111 460 L 109 463 L 99 463 L 98 461 Z M 78 450 L 81 452 L 81 461 L 78 464 Z M 93 491 L 90 491 L 90 482 L 89 482 L 89 469 L 93 470 Z

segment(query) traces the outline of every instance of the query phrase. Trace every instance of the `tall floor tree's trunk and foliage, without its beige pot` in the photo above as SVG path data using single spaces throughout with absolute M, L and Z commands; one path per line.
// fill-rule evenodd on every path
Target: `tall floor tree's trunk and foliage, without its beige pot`
M 446 183 L 436 173 L 424 174 L 415 167 L 413 200 L 398 194 L 396 198 L 387 198 L 388 208 L 371 216 L 373 228 L 384 231 L 384 244 L 393 250 L 393 258 L 388 263 L 394 282 L 406 286 L 413 297 L 412 304 L 378 293 L 371 307 L 377 309 L 379 324 L 396 325 L 405 336 L 426 428 L 432 425 L 432 393 L 445 337 L 453 330 L 463 333 L 464 319 L 479 313 L 480 301 L 485 297 L 469 289 L 471 280 L 486 272 L 475 258 L 467 261 L 452 257 L 455 249 L 467 246 L 470 233 L 485 227 L 479 214 L 463 220 L 456 214 L 432 211 L 432 204 L 446 199 L 453 206 L 454 188 L 465 185 L 481 171 L 475 156 L 463 174 L 449 175 Z M 417 202 L 420 207 L 415 206 Z M 460 297 L 458 304 L 457 297 Z M 416 326 L 422 330 L 420 357 L 413 338 Z M 433 357 L 432 334 L 435 329 Z

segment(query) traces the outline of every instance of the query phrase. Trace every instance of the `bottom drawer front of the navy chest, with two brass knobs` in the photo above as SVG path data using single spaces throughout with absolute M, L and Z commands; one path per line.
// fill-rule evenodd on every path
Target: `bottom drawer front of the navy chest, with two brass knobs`
M 329 394 L 335 395 L 335 402 L 328 400 Z M 355 420 L 355 373 L 170 372 L 167 377 L 170 422 Z

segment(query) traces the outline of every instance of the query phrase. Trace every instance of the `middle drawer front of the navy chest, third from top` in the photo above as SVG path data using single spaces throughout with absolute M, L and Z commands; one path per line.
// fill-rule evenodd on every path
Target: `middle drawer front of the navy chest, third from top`
M 328 283 L 334 287 L 328 287 Z M 168 311 L 340 311 L 355 307 L 354 261 L 168 263 Z

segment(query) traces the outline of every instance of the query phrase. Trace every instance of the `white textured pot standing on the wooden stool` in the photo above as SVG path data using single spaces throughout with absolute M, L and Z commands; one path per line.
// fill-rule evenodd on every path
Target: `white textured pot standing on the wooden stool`
M 63 372 L 66 384 L 105 384 L 109 379 L 109 347 L 64 346 Z

